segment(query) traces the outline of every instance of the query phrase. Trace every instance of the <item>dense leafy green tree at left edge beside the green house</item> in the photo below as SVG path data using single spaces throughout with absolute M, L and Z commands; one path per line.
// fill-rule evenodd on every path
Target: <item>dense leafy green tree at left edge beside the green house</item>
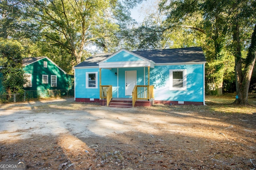
M 9 94 L 23 89 L 22 45 L 16 40 L 0 39 L 2 85 Z

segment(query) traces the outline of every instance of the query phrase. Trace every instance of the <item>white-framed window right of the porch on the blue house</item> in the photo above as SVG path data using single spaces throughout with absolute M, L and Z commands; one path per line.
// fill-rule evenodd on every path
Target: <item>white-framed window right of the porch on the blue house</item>
M 170 90 L 187 90 L 187 70 L 170 70 Z

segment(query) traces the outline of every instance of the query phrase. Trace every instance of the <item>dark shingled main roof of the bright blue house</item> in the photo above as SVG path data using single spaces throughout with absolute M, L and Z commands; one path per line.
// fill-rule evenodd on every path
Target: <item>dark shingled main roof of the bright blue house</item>
M 122 50 L 122 49 L 121 49 Z M 119 50 L 120 51 L 120 50 Z M 118 53 L 118 52 L 116 52 Z M 99 66 L 98 63 L 106 61 L 116 53 L 105 53 L 92 55 L 75 67 Z M 163 49 L 148 51 L 132 51 L 137 56 L 153 61 L 156 65 L 160 64 L 186 64 L 186 63 L 206 63 L 206 58 L 201 47 L 189 47 L 180 49 Z

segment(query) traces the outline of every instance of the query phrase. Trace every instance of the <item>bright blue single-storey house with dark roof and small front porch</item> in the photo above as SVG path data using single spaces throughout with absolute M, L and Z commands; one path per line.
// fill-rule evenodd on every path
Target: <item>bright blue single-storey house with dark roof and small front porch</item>
M 76 102 L 205 104 L 200 47 L 96 54 L 74 67 Z

